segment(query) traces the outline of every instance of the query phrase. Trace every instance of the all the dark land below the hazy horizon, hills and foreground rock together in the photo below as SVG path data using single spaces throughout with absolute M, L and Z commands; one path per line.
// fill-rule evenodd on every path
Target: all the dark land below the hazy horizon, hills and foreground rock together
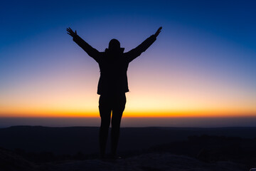
M 255 167 L 256 128 L 122 128 L 119 150 L 124 158 L 115 161 L 98 160 L 98 130 L 1 128 L 0 169 L 231 171 Z

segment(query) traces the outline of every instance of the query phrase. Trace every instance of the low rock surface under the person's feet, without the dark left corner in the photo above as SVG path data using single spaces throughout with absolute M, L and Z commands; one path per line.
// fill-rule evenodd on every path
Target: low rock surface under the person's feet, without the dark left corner
M 121 160 L 82 160 L 44 166 L 48 171 L 242 171 L 245 167 L 233 162 L 206 163 L 191 157 L 169 153 L 151 153 Z

